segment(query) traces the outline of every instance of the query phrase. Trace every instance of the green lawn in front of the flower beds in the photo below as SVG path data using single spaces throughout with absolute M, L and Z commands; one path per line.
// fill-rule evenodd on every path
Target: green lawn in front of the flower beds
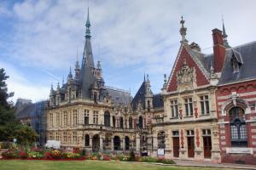
M 12 160 L 0 161 L 1 170 L 180 170 L 180 169 L 199 169 L 216 170 L 220 168 L 205 167 L 176 167 L 159 166 L 150 164 L 140 164 L 119 161 L 26 161 Z

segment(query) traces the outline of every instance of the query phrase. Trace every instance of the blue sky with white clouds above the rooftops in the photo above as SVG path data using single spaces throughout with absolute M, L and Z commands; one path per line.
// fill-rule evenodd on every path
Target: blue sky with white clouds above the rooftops
M 14 101 L 47 99 L 51 83 L 67 81 L 77 48 L 82 58 L 87 6 L 84 0 L 0 1 L 0 67 L 10 77 Z M 212 29 L 222 29 L 222 15 L 231 46 L 256 40 L 255 6 L 253 0 L 90 1 L 95 62 L 102 62 L 108 86 L 134 95 L 148 73 L 153 92 L 160 93 L 179 48 L 181 15 L 189 42 L 210 54 Z

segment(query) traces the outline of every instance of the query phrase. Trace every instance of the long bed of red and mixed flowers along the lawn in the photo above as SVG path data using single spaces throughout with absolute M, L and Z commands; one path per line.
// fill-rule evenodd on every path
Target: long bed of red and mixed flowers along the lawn
M 2 159 L 26 159 L 26 160 L 52 160 L 52 161 L 73 161 L 73 160 L 101 160 L 101 161 L 139 161 L 157 162 L 163 164 L 175 164 L 175 161 L 165 158 L 150 156 L 137 156 L 133 151 L 130 153 L 92 153 L 85 158 L 84 151 L 74 148 L 73 152 L 64 150 L 40 150 L 37 148 L 14 148 L 6 150 Z

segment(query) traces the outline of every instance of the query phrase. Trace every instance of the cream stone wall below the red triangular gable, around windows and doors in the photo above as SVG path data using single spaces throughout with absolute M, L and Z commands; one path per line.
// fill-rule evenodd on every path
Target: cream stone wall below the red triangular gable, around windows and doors
M 203 115 L 201 113 L 200 96 L 207 95 L 209 99 L 209 114 Z M 184 99 L 191 97 L 193 99 L 193 116 L 185 115 Z M 171 101 L 178 101 L 177 117 L 172 117 Z M 166 148 L 165 157 L 174 159 L 193 159 L 205 160 L 204 158 L 204 143 L 203 143 L 203 129 L 211 131 L 210 137 L 212 142 L 212 156 L 206 158 L 213 162 L 220 161 L 220 150 L 218 143 L 218 124 L 215 103 L 215 88 L 198 88 L 197 90 L 184 91 L 183 93 L 166 94 L 164 97 L 164 122 L 155 123 L 153 125 L 154 136 L 154 156 L 157 156 L 157 134 L 165 132 L 166 134 Z M 195 156 L 188 156 L 188 141 L 187 130 L 194 130 L 195 140 Z M 175 157 L 173 152 L 173 131 L 178 131 L 179 138 L 179 156 Z M 177 137 L 177 136 L 176 136 Z

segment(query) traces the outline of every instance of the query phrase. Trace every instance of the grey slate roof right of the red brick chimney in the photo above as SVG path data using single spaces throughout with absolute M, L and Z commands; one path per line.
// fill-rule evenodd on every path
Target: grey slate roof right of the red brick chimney
M 231 58 L 236 57 L 241 63 L 240 70 L 233 72 Z M 226 51 L 226 59 L 224 61 L 224 69 L 219 80 L 219 84 L 229 82 L 238 82 L 247 79 L 256 78 L 256 41 L 243 44 L 235 48 L 228 48 Z

